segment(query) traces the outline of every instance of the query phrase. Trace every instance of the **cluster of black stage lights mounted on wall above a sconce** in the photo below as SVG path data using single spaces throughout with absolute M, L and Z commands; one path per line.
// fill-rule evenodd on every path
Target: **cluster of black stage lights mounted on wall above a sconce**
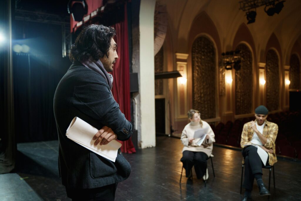
M 226 70 L 234 68 L 236 71 L 239 71 L 241 67 L 241 60 L 240 50 L 222 53 L 222 63 Z

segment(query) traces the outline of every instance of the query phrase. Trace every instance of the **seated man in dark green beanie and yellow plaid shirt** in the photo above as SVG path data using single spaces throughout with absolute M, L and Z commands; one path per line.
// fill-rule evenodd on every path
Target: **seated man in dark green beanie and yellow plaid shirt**
M 259 194 L 261 196 L 270 195 L 262 181 L 262 167 L 264 167 L 264 163 L 260 159 L 256 147 L 260 146 L 268 153 L 266 165 L 274 165 L 277 162 L 275 140 L 278 133 L 278 125 L 266 121 L 267 117 L 268 109 L 260 105 L 255 109 L 256 120 L 244 124 L 243 132 L 241 133 L 240 146 L 243 148 L 243 163 L 245 164 L 243 186 L 246 189 L 243 201 L 251 198 L 254 178 L 256 178 L 259 187 Z

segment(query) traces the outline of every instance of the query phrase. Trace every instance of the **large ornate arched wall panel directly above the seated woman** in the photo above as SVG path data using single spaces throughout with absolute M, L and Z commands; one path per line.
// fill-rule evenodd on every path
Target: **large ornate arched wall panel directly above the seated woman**
M 192 46 L 192 105 L 202 119 L 216 117 L 216 58 L 213 43 L 198 37 Z

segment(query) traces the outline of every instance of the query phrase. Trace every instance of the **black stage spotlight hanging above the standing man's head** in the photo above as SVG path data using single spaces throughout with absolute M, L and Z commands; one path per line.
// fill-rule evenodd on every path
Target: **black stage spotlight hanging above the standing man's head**
M 67 6 L 68 13 L 72 15 L 74 21 L 82 21 L 85 14 L 88 13 L 88 5 L 86 1 L 70 0 Z

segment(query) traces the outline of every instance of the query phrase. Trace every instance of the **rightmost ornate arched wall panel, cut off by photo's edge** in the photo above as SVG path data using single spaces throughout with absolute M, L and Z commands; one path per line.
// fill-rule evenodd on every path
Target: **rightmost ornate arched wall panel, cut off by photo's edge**
M 290 89 L 300 89 L 300 61 L 295 54 L 290 57 Z

